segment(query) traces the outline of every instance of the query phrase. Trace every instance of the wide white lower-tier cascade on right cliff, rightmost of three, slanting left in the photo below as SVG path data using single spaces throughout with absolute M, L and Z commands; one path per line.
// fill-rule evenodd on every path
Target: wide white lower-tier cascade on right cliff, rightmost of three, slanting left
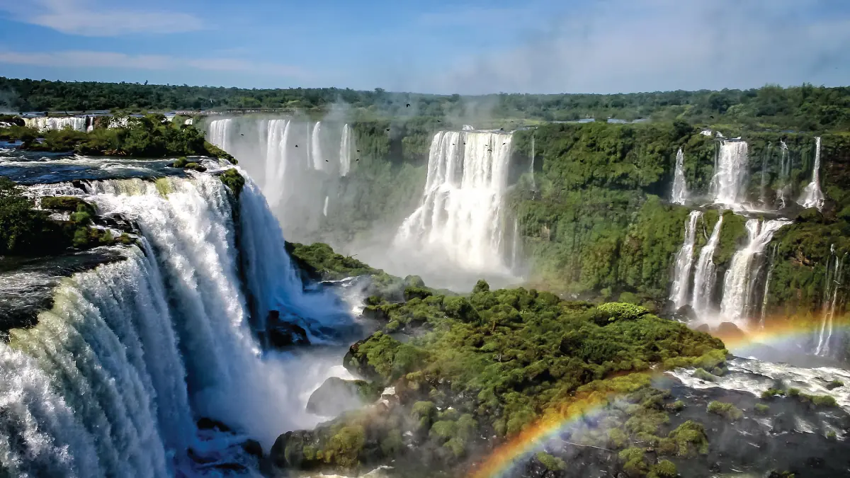
M 732 256 L 732 262 L 723 279 L 723 300 L 720 313 L 724 322 L 734 322 L 739 327 L 746 327 L 753 287 L 757 280 L 757 268 L 754 261 L 757 255 L 764 252 L 774 232 L 784 225 L 791 224 L 790 220 L 773 219 L 761 221 L 749 219 L 746 221 L 748 243 L 745 248 Z

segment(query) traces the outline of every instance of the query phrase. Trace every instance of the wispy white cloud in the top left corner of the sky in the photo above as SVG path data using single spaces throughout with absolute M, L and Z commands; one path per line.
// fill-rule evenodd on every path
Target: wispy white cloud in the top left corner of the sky
M 174 33 L 203 27 L 201 19 L 193 14 L 122 9 L 113 2 L 95 0 L 0 0 L 0 9 L 23 23 L 86 37 Z

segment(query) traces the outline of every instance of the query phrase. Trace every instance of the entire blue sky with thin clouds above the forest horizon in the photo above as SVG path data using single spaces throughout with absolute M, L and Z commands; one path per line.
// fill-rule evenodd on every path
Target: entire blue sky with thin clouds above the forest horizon
M 425 93 L 850 84 L 847 0 L 0 0 L 0 76 Z

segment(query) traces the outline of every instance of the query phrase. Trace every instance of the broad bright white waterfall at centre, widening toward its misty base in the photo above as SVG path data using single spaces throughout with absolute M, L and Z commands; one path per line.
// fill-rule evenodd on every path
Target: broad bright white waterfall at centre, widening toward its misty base
M 440 131 L 428 152 L 422 205 L 399 227 L 395 242 L 438 248 L 467 270 L 503 270 L 502 195 L 511 134 Z

